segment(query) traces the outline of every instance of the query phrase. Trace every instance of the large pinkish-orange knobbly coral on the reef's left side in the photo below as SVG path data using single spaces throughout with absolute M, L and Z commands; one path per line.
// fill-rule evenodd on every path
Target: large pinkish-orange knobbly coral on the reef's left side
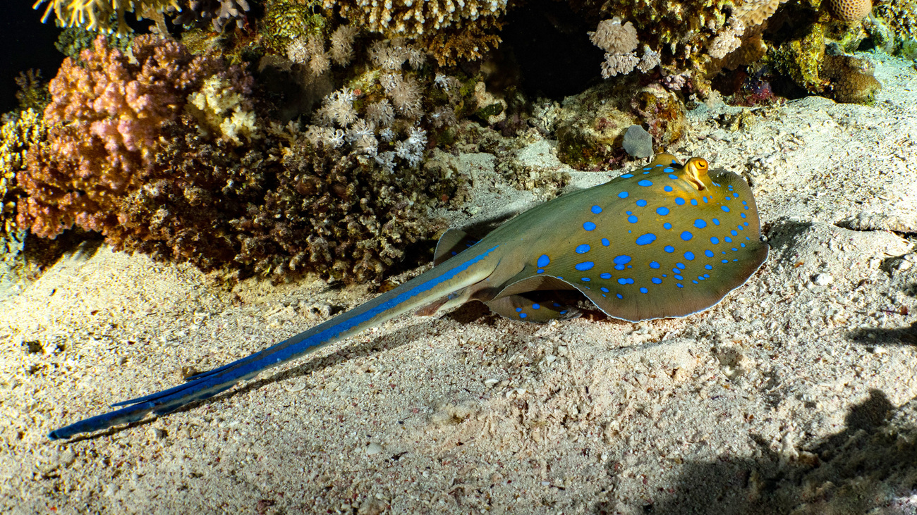
M 123 230 L 119 202 L 154 173 L 160 127 L 182 113 L 189 94 L 213 77 L 236 93 L 251 85 L 237 68 L 174 41 L 138 37 L 133 58 L 100 37 L 83 50 L 84 67 L 64 60 L 50 82 L 48 145 L 29 153 L 19 181 L 28 199 L 18 223 L 34 234 L 54 237 L 74 224 L 106 236 Z

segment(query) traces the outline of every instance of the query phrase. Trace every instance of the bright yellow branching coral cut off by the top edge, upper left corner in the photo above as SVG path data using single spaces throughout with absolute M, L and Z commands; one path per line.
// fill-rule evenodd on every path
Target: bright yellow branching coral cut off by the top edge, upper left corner
M 166 10 L 181 10 L 176 0 L 38 0 L 32 7 L 37 9 L 42 4 L 48 4 L 48 7 L 41 21 L 47 21 L 53 12 L 63 27 L 110 31 L 110 20 L 115 16 L 118 34 L 128 32 L 124 19 L 127 12 L 155 17 Z

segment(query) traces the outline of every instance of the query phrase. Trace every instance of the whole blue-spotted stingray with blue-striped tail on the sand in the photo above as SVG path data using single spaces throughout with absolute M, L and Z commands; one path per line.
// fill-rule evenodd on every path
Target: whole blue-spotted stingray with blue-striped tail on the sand
M 435 314 L 466 301 L 528 322 L 572 316 L 578 290 L 602 312 L 636 322 L 686 316 L 721 301 L 761 266 L 751 189 L 735 173 L 681 165 L 658 154 L 646 167 L 558 197 L 478 242 L 449 231 L 436 266 L 353 310 L 180 386 L 115 404 L 125 406 L 55 430 L 51 439 L 167 413 L 232 388 L 260 371 L 420 309 Z

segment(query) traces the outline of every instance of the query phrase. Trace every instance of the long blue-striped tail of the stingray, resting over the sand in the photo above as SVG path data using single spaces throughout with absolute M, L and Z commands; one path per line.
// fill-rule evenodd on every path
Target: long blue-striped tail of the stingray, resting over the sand
M 262 370 L 314 352 L 325 345 L 359 333 L 403 312 L 409 312 L 427 302 L 434 301 L 451 291 L 470 286 L 486 278 L 491 274 L 492 268 L 475 267 L 474 265 L 488 257 L 496 248 L 491 247 L 477 252 L 469 249 L 442 266 L 433 268 L 398 288 L 353 310 L 337 315 L 325 323 L 320 323 L 304 333 L 297 334 L 226 366 L 192 376 L 188 378 L 188 382 L 177 387 L 113 404 L 113 407 L 125 407 L 61 427 L 50 432 L 48 437 L 51 440 L 70 438 L 78 433 L 88 433 L 121 423 L 136 422 L 150 412 L 169 413 L 195 400 L 213 397 L 221 391 L 232 388 L 241 380 L 254 378 Z

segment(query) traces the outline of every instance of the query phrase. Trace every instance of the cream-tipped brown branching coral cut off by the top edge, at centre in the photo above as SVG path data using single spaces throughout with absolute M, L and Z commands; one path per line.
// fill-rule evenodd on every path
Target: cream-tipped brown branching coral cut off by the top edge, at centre
M 416 40 L 440 64 L 476 60 L 501 41 L 508 0 L 323 0 L 327 9 L 386 38 Z

